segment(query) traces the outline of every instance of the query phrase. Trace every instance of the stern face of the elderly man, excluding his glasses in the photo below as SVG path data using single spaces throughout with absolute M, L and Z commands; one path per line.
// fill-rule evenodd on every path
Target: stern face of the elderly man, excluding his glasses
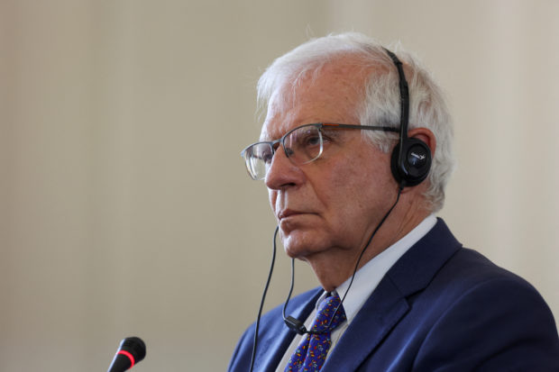
M 361 69 L 332 64 L 315 81 L 304 79 L 295 97 L 272 97 L 261 140 L 313 122 L 359 124 L 355 107 L 362 102 L 363 77 Z M 290 257 L 312 261 L 349 250 L 356 256 L 397 194 L 389 154 L 366 141 L 362 131 L 328 133 L 321 157 L 305 165 L 292 164 L 278 148 L 265 178 Z

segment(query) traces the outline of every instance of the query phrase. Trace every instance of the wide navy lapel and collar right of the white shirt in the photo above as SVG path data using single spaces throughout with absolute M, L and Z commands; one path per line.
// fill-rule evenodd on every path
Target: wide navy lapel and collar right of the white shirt
M 332 350 L 322 372 L 356 370 L 408 313 L 408 296 L 428 286 L 460 247 L 439 219 L 382 278 Z

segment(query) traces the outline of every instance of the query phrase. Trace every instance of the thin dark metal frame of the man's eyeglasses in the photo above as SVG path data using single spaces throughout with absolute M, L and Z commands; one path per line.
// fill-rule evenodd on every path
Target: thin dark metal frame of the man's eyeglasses
M 321 141 L 320 151 L 318 152 L 318 155 L 316 156 L 316 158 L 310 159 L 307 162 L 299 164 L 299 165 L 308 164 L 308 163 L 311 163 L 311 162 L 315 161 L 316 159 L 320 158 L 320 156 L 322 155 L 322 151 L 323 151 L 323 146 L 322 146 L 323 140 L 322 140 L 321 130 L 322 130 L 322 128 L 325 128 L 325 127 L 329 128 L 329 129 L 359 129 L 359 130 L 365 130 L 365 131 L 382 131 L 382 132 L 396 132 L 396 133 L 400 132 L 399 128 L 382 126 L 382 125 L 357 125 L 357 124 L 341 124 L 341 123 L 334 123 L 334 122 L 313 122 L 313 123 L 309 123 L 309 124 L 299 125 L 298 127 L 293 128 L 289 132 L 285 133 L 278 140 L 254 142 L 254 143 L 250 144 L 249 146 L 245 147 L 243 149 L 243 151 L 241 151 L 241 157 L 245 160 L 245 166 L 246 166 L 246 170 L 249 173 L 249 176 L 251 176 L 251 178 L 255 181 L 264 179 L 264 177 L 265 177 L 265 176 L 264 177 L 254 177 L 252 175 L 252 171 L 251 171 L 251 168 L 249 166 L 249 161 L 245 157 L 245 153 L 246 153 L 247 150 L 251 149 L 254 145 L 258 145 L 258 144 L 261 144 L 261 143 L 269 144 L 270 148 L 271 148 L 271 156 L 272 156 L 272 159 L 273 159 L 273 156 L 276 153 L 276 148 L 277 148 L 276 144 L 280 143 L 281 148 L 283 149 L 283 151 L 286 154 L 286 157 L 288 159 L 290 159 L 289 158 L 289 151 L 286 150 L 286 147 L 285 147 L 285 139 L 292 132 L 298 131 L 300 128 L 307 127 L 307 126 L 315 126 L 318 129 L 318 132 L 320 132 L 320 141 Z

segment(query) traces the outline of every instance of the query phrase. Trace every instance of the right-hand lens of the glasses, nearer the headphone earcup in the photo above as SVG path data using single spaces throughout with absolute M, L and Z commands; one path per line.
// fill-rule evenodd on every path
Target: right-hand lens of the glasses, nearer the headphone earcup
M 316 125 L 303 125 L 289 132 L 284 147 L 286 155 L 293 163 L 306 164 L 322 153 L 322 134 Z

